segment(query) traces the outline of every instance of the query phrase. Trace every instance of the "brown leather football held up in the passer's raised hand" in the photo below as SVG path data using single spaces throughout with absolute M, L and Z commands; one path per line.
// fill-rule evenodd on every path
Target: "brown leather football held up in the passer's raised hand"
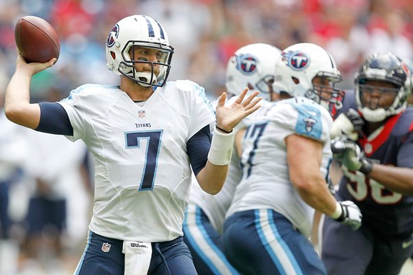
M 59 58 L 60 41 L 56 31 L 44 19 L 22 17 L 14 28 L 14 39 L 21 55 L 28 63 L 45 63 Z

